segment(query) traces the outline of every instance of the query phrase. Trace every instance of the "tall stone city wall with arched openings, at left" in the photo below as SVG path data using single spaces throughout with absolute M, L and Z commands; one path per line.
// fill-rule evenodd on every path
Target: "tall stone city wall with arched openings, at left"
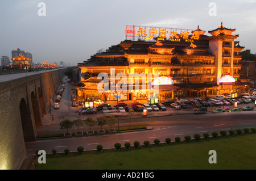
M 36 127 L 42 126 L 42 113 L 49 111 L 49 98 L 57 91 L 64 71 L 19 74 L 0 82 L 0 170 L 16 170 L 22 165 L 27 154 L 25 142 L 36 140 Z

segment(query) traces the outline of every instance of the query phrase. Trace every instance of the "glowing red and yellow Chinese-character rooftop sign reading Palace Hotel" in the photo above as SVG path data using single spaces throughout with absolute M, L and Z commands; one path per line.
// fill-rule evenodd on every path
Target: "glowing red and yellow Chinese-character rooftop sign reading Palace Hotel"
M 198 31 L 181 30 L 177 28 L 154 28 L 154 27 L 139 27 L 139 26 L 126 26 L 125 36 L 127 39 L 134 39 L 137 37 L 140 40 L 154 40 L 158 37 L 159 41 L 180 41 L 193 42 L 200 37 Z

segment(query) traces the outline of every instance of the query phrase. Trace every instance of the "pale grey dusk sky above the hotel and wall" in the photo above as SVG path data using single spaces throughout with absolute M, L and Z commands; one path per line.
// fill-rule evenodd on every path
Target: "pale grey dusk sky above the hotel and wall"
M 39 16 L 39 2 L 46 16 Z M 209 3 L 216 4 L 210 15 Z M 211 11 L 212 12 L 212 11 Z M 77 65 L 101 48 L 125 38 L 126 25 L 208 31 L 236 28 L 240 45 L 256 53 L 256 0 L 1 0 L 0 57 L 20 48 L 32 53 L 33 62 L 64 61 Z

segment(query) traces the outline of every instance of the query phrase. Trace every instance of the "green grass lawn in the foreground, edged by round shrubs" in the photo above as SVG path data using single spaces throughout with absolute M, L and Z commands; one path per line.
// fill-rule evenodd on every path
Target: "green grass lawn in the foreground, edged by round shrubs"
M 163 140 L 162 140 L 163 141 Z M 172 140 L 174 141 L 174 140 Z M 143 143 L 141 143 L 142 145 Z M 131 143 L 132 145 L 132 143 Z M 123 145 L 122 145 L 123 146 Z M 217 163 L 210 164 L 209 150 L 216 150 Z M 36 170 L 255 170 L 256 134 L 201 138 L 200 141 L 171 142 L 170 145 L 150 145 L 148 148 L 131 147 L 83 153 L 64 153 L 46 157 L 46 164 L 38 164 Z

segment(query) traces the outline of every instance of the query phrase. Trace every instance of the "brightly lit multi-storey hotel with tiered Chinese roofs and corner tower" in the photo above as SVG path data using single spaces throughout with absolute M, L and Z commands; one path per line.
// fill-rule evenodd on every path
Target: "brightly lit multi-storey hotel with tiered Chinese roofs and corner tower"
M 111 86 L 107 91 L 98 92 L 97 86 L 102 79 L 97 76 L 108 74 L 110 85 L 110 75 L 124 73 L 127 91 L 122 92 L 121 100 L 148 99 L 154 92 L 144 89 L 142 78 L 135 80 L 132 75 L 144 73 L 147 77 L 152 73 L 153 78 L 158 74 L 162 79 L 172 80 L 172 83 L 160 83 L 160 100 L 242 92 L 247 86 L 247 82 L 240 81 L 239 75 L 240 52 L 244 47 L 234 41 L 238 37 L 232 35 L 234 31 L 236 29 L 225 28 L 222 23 L 216 30 L 208 31 L 211 36 L 204 35 L 205 31 L 199 27 L 177 30 L 126 26 L 126 40 L 77 65 L 83 86 L 74 87 L 85 99 L 116 100 Z M 114 79 L 115 83 L 119 80 Z M 129 91 L 129 86 L 133 86 L 129 82 L 135 81 L 139 81 L 139 90 Z

